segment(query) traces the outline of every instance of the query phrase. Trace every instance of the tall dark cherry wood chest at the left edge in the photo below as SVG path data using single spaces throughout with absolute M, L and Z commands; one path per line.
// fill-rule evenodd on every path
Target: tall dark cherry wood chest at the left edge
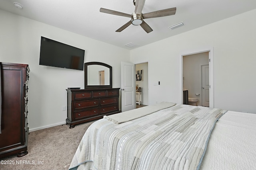
M 0 158 L 28 154 L 28 73 L 27 64 L 0 63 L 2 124 Z

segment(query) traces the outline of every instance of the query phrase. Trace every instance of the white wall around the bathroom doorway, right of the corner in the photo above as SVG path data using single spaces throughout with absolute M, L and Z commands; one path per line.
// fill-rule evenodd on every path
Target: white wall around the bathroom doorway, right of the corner
M 150 104 L 180 103 L 181 54 L 213 47 L 214 107 L 256 113 L 255 16 L 252 10 L 133 49 L 132 63 L 150 62 Z

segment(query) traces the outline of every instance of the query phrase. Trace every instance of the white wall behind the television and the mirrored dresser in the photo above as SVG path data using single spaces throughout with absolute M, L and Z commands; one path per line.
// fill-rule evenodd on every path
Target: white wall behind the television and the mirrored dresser
M 41 36 L 86 50 L 84 62 L 112 66 L 113 88 L 121 86 L 121 61 L 130 51 L 0 10 L 0 62 L 29 64 L 30 131 L 65 123 L 66 88 L 84 88 L 84 71 L 39 65 Z

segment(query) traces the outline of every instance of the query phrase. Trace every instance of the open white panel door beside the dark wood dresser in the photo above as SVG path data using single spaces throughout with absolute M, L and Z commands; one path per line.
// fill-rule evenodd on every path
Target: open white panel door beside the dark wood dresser
M 121 62 L 122 112 L 135 109 L 135 66 Z

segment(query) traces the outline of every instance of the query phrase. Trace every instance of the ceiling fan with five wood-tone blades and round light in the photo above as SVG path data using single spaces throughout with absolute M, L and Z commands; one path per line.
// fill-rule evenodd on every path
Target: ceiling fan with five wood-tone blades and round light
M 121 32 L 126 27 L 133 24 L 133 25 L 140 25 L 147 33 L 150 33 L 151 31 L 153 31 L 153 29 L 144 21 L 144 19 L 171 16 L 176 13 L 176 8 L 168 8 L 165 10 L 159 10 L 159 11 L 155 11 L 155 12 L 149 12 L 146 14 L 142 14 L 142 9 L 145 4 L 145 1 L 146 0 L 133 0 L 133 4 L 135 5 L 135 11 L 133 14 L 125 14 L 122 12 L 108 10 L 105 8 L 100 8 L 100 12 L 131 18 L 130 21 L 128 21 L 122 27 L 117 29 L 116 32 Z

